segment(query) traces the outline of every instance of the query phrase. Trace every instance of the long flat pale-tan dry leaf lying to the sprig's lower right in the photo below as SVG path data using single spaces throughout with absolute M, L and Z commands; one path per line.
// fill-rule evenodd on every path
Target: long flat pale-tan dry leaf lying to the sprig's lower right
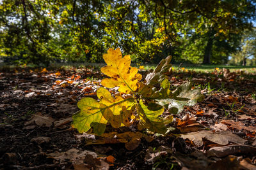
M 214 143 L 219 145 L 228 145 L 228 142 L 237 143 L 237 144 L 244 144 L 246 140 L 240 138 L 236 134 L 232 134 L 229 131 L 221 131 L 221 132 L 212 132 L 212 131 L 200 131 L 200 132 L 190 132 L 187 134 L 182 134 L 181 138 L 189 139 L 195 143 L 196 146 L 200 147 L 203 146 L 203 139 L 208 139 Z

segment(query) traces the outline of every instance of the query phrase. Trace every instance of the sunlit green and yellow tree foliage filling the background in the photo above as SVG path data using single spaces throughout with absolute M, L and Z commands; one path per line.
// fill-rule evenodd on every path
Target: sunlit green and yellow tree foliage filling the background
M 0 56 L 49 64 L 101 62 L 120 47 L 136 62 L 226 63 L 252 31 L 254 0 L 3 0 Z M 255 40 L 253 40 L 255 41 Z M 255 54 L 253 54 L 254 56 Z

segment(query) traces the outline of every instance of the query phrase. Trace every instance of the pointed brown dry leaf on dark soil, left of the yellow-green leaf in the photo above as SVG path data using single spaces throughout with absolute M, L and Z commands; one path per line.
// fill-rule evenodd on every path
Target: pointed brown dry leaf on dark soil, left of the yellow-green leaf
M 53 118 L 45 117 L 45 116 L 42 115 L 42 113 L 37 112 L 24 125 L 31 125 L 31 124 L 35 123 L 36 125 L 38 125 L 40 127 L 51 127 L 52 122 L 54 122 Z

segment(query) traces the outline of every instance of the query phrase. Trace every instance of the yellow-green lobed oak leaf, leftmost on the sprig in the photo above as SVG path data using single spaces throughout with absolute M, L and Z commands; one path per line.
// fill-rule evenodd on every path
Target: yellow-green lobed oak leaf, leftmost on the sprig
M 127 120 L 131 114 L 127 109 L 131 109 L 134 99 L 131 97 L 123 98 L 122 96 L 111 96 L 110 92 L 104 87 L 97 90 L 97 96 L 100 101 L 85 97 L 77 103 L 81 109 L 72 116 L 74 122 L 72 126 L 79 132 L 86 132 L 93 127 L 95 134 L 101 135 L 105 129 L 107 122 L 115 128 L 123 124 L 127 124 Z

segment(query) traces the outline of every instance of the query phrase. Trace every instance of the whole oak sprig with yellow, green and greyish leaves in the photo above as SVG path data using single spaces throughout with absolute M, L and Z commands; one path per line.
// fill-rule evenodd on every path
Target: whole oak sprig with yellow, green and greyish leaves
M 77 103 L 81 111 L 72 116 L 72 127 L 79 132 L 87 132 L 93 127 L 93 132 L 101 135 L 108 122 L 114 128 L 129 127 L 136 122 L 140 131 L 148 129 L 164 134 L 166 124 L 172 122 L 170 115 L 161 117 L 164 108 L 170 114 L 176 114 L 185 104 L 195 104 L 204 97 L 200 91 L 191 90 L 190 83 L 181 85 L 174 92 L 170 90 L 170 82 L 164 74 L 172 67 L 170 56 L 161 60 L 144 81 L 141 81 L 138 69 L 130 66 L 131 57 L 122 57 L 120 48 L 110 48 L 103 59 L 108 65 L 102 67 L 101 71 L 109 78 L 104 78 L 101 84 L 107 88 L 119 87 L 119 93 L 112 96 L 107 89 L 100 87 L 97 90 L 99 101 L 90 97 L 81 99 Z

